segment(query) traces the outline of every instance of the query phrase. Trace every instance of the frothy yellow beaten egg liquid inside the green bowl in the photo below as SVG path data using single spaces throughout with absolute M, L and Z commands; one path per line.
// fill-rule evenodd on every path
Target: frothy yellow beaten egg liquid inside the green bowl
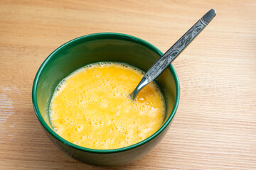
M 154 83 L 134 101 L 144 75 L 125 64 L 101 63 L 65 78 L 50 103 L 50 123 L 65 140 L 91 149 L 116 149 L 145 140 L 164 121 L 164 98 Z

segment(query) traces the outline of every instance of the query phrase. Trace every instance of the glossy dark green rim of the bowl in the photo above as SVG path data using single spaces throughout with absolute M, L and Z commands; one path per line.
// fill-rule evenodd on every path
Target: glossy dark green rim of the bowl
M 169 66 L 169 69 L 171 71 L 171 74 L 174 75 L 174 81 L 176 84 L 176 101 L 174 104 L 174 109 L 171 111 L 171 115 L 169 116 L 169 118 L 167 118 L 166 122 L 161 125 L 161 128 L 159 128 L 159 130 L 157 130 L 156 132 L 154 132 L 153 135 L 151 135 L 150 137 L 147 137 L 145 140 L 142 140 L 141 142 L 138 142 L 134 145 L 130 145 L 128 147 L 122 147 L 122 148 L 117 148 L 117 149 L 90 149 L 87 147 L 80 147 L 78 145 L 75 145 L 71 142 L 68 142 L 68 140 L 65 140 L 63 137 L 60 137 L 57 133 L 55 133 L 50 127 L 49 125 L 46 123 L 46 121 L 43 119 L 43 116 L 41 115 L 39 109 L 38 109 L 38 104 L 37 104 L 37 100 L 36 100 L 36 89 L 38 86 L 38 79 L 41 76 L 41 72 L 44 69 L 44 67 L 46 66 L 46 64 L 49 62 L 49 60 L 54 57 L 55 53 L 58 52 L 59 50 L 62 50 L 63 47 L 67 46 L 67 45 L 71 45 L 73 43 L 75 43 L 78 40 L 82 40 L 82 39 L 89 39 L 90 38 L 95 38 L 95 40 L 99 40 L 99 39 L 118 39 L 118 40 L 127 40 L 127 41 L 131 41 L 131 42 L 136 42 L 139 43 L 140 45 L 143 45 L 144 47 L 149 48 L 150 50 L 153 50 L 154 52 L 156 52 L 158 55 L 163 55 L 163 52 L 161 52 L 157 47 L 155 47 L 154 45 L 151 45 L 149 42 L 146 42 L 145 40 L 142 40 L 140 38 L 134 37 L 132 35 L 127 35 L 127 34 L 123 34 L 123 33 L 93 33 L 93 34 L 89 34 L 89 35 L 83 35 L 80 36 L 78 38 L 75 38 L 73 40 L 70 40 L 68 42 L 65 42 L 65 44 L 60 45 L 60 47 L 58 47 L 56 50 L 54 50 L 47 58 L 46 60 L 43 61 L 43 63 L 41 64 L 41 67 L 39 67 L 38 72 L 36 73 L 36 77 L 33 81 L 33 87 L 32 87 L 32 103 L 33 103 L 33 108 L 34 111 L 36 113 L 36 116 L 39 120 L 39 122 L 41 123 L 41 125 L 43 126 L 43 128 L 45 130 L 47 130 L 50 135 L 52 135 L 53 137 L 55 137 L 56 140 L 58 140 L 59 142 L 62 142 L 65 145 L 68 145 L 69 147 L 73 147 L 74 149 L 79 149 L 82 150 L 84 152 L 92 152 L 92 153 L 116 153 L 116 152 L 124 152 L 127 151 L 129 149 L 134 149 L 136 147 L 139 147 L 141 145 L 146 144 L 147 142 L 153 140 L 156 136 L 158 136 L 165 128 L 167 128 L 167 126 L 169 125 L 169 123 L 171 123 L 171 120 L 174 118 L 174 115 L 177 111 L 178 108 L 178 103 L 179 103 L 179 98 L 180 98 L 180 85 L 178 82 L 178 76 L 176 74 L 176 71 L 173 67 L 173 65 L 171 64 Z

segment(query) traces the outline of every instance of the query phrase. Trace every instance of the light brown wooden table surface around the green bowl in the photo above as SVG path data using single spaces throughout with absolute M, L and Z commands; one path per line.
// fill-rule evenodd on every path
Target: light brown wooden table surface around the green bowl
M 142 159 L 102 168 L 70 159 L 33 111 L 33 79 L 58 46 L 126 33 L 166 51 L 210 8 L 217 16 L 174 61 L 181 100 Z M 256 2 L 0 1 L 0 169 L 256 169 Z

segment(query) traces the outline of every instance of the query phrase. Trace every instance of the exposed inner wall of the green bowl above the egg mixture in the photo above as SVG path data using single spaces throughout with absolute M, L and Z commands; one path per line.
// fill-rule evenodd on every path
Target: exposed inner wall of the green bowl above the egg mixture
M 95 62 L 124 62 L 146 71 L 160 57 L 156 48 L 131 38 L 101 35 L 78 38 L 55 50 L 38 72 L 36 101 L 43 119 L 48 123 L 48 109 L 53 91 L 59 82 L 80 67 Z M 157 79 L 166 102 L 166 117 L 169 118 L 176 101 L 176 84 L 170 69 Z

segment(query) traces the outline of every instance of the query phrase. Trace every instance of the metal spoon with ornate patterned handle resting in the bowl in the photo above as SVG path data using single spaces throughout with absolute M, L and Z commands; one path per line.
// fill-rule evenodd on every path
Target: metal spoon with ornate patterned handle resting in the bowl
M 134 100 L 136 95 L 141 91 L 146 84 L 159 77 L 164 70 L 169 67 L 172 61 L 178 57 L 178 55 L 188 46 L 188 44 L 196 38 L 196 35 L 201 33 L 208 23 L 216 16 L 216 11 L 210 9 L 195 25 L 193 25 L 164 55 L 161 56 L 157 62 L 146 72 L 138 86 L 132 91 L 129 96 Z

